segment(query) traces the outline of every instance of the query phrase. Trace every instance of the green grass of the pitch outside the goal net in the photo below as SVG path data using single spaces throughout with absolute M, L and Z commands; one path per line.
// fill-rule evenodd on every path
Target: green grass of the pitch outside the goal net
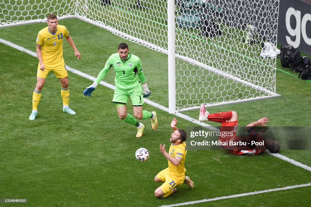
M 125 42 L 130 52 L 142 60 L 152 92 L 150 100 L 168 106 L 165 54 L 77 19 L 62 20 L 60 24 L 67 26 L 82 57 L 77 61 L 65 41 L 64 59 L 68 66 L 96 77 L 117 45 Z M 45 23 L 38 23 L 0 28 L 0 38 L 35 52 L 35 37 L 44 26 Z M 136 138 L 135 127 L 118 119 L 111 104 L 113 90 L 98 86 L 91 97 L 84 97 L 82 92 L 92 81 L 69 72 L 70 107 L 77 115 L 61 111 L 60 84 L 49 74 L 38 116 L 31 122 L 28 117 L 38 60 L 7 45 L 0 47 L 0 198 L 28 198 L 27 205 L 17 206 L 159 206 L 311 182 L 309 171 L 266 153 L 235 156 L 224 150 L 189 150 L 186 174 L 193 179 L 195 188 L 182 185 L 176 194 L 157 199 L 154 190 L 160 184 L 153 179 L 167 167 L 159 144 L 166 144 L 168 150 L 173 114 L 146 104 L 145 110 L 157 112 L 160 126 L 154 131 L 150 121 L 144 120 L 144 136 Z M 276 92 L 281 98 L 208 110 L 237 111 L 240 126 L 264 116 L 270 118 L 269 126 L 311 126 L 307 110 L 311 105 L 310 83 L 282 71 L 276 75 Z M 114 83 L 113 70 L 104 81 Z M 183 113 L 193 119 L 198 117 L 198 110 Z M 177 119 L 180 128 L 195 126 Z M 150 158 L 144 163 L 134 157 L 140 147 L 150 151 Z M 280 153 L 311 165 L 309 150 Z M 194 206 L 307 206 L 311 201 L 309 192 L 310 187 L 302 187 Z

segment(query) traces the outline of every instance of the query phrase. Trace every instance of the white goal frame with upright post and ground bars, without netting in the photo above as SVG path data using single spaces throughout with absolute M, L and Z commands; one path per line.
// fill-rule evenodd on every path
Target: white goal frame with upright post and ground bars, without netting
M 43 0 L 42 0 L 43 1 Z M 189 0 L 188 0 L 189 1 Z M 191 1 L 191 0 L 190 0 Z M 215 1 L 215 0 L 214 0 Z M 247 1 L 247 0 L 245 0 Z M 260 0 L 264 1 L 264 0 Z M 276 0 L 278 2 L 278 0 Z M 251 89 L 255 89 L 257 91 L 263 92 L 265 95 L 259 96 L 259 97 L 246 97 L 242 99 L 235 99 L 235 100 L 228 100 L 228 101 L 222 101 L 222 102 L 215 102 L 215 103 L 205 103 L 207 107 L 209 106 L 219 106 L 224 104 L 233 104 L 233 103 L 239 103 L 239 102 L 247 102 L 252 100 L 258 100 L 258 99 L 269 99 L 269 98 L 276 98 L 280 97 L 280 94 L 276 93 L 276 85 L 275 85 L 275 77 L 274 77 L 274 83 L 272 83 L 272 87 L 270 89 L 266 89 L 265 87 L 262 87 L 261 85 L 253 84 L 249 81 L 245 81 L 244 79 L 241 79 L 237 76 L 234 76 L 232 74 L 228 74 L 222 70 L 219 70 L 215 67 L 211 67 L 207 65 L 204 62 L 198 61 L 194 57 L 186 57 L 182 54 L 179 54 L 175 49 L 176 44 L 176 34 L 175 31 L 177 30 L 176 25 L 176 16 L 175 12 L 177 11 L 177 7 L 175 5 L 175 2 L 173 0 L 167 1 L 167 48 L 161 47 L 157 44 L 153 44 L 151 42 L 148 42 L 144 39 L 141 39 L 139 37 L 135 37 L 131 34 L 124 33 L 112 26 L 106 25 L 103 21 L 100 21 L 100 19 L 92 19 L 87 18 L 89 12 L 90 12 L 90 6 L 92 7 L 92 3 L 100 3 L 100 0 L 75 0 L 75 1 L 68 1 L 70 6 L 68 7 L 66 11 L 49 11 L 49 13 L 56 14 L 59 19 L 65 19 L 65 18 L 78 18 L 83 21 L 89 22 L 93 25 L 100 26 L 106 30 L 109 30 L 113 34 L 116 34 L 124 39 L 128 39 L 132 42 L 135 42 L 137 44 L 144 45 L 148 48 L 151 48 L 153 50 L 159 51 L 161 53 L 168 54 L 168 102 L 169 102 L 169 113 L 176 113 L 180 111 L 185 111 L 189 109 L 196 109 L 199 108 L 199 104 L 196 103 L 193 106 L 181 108 L 178 107 L 176 110 L 176 60 L 182 60 L 184 62 L 190 63 L 193 67 L 198 67 L 201 70 L 207 70 L 213 74 L 217 74 L 217 76 L 225 77 L 228 80 L 233 81 L 234 83 L 239 83 L 240 85 L 243 85 L 245 87 L 249 87 Z M 207 2 L 207 0 L 205 0 Z M 0 2 L 1 4 L 1 2 Z M 4 3 L 2 3 L 4 4 Z M 26 9 L 26 8 L 25 8 Z M 1 17 L 1 13 L 0 13 Z M 41 17 L 41 18 L 40 18 Z M 37 23 L 37 22 L 45 22 L 46 21 L 46 14 L 42 13 L 41 15 L 33 15 L 30 17 L 30 19 L 27 20 L 14 20 L 14 21 L 5 21 L 4 19 L 0 18 L 0 28 L 6 27 L 6 26 L 12 26 L 12 25 L 22 25 L 22 24 L 30 24 L 30 23 Z M 276 21 L 277 22 L 277 21 Z M 274 40 L 274 43 L 276 43 L 276 37 Z M 273 71 L 275 75 L 276 71 L 276 63 L 267 66 L 269 70 Z

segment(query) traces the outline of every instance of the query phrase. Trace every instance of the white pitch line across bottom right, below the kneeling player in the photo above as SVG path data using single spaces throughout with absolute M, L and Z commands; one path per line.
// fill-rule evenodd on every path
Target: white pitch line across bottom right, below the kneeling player
M 222 200 L 222 199 L 228 199 L 228 198 L 237 198 L 237 197 L 242 197 L 242 196 L 247 196 L 247 195 L 256 195 L 256 194 L 260 194 L 260 193 L 268 193 L 268 192 L 273 192 L 273 191 L 282 191 L 282 190 L 288 190 L 288 189 L 300 188 L 300 187 L 307 187 L 307 186 L 311 186 L 311 182 L 306 183 L 306 184 L 301 184 L 301 185 L 295 185 L 295 186 L 286 186 L 286 187 L 283 187 L 283 188 L 273 188 L 273 189 L 268 189 L 268 190 L 263 190 L 263 191 L 254 191 L 254 192 L 249 192 L 249 193 L 227 195 L 227 196 L 221 196 L 221 197 L 217 197 L 217 198 L 195 200 L 195 201 L 189 201 L 189 202 L 177 203 L 177 204 L 171 204 L 171 205 L 161 205 L 160 207 L 192 205 L 192 204 L 204 203 L 204 202 L 215 201 L 215 200 Z

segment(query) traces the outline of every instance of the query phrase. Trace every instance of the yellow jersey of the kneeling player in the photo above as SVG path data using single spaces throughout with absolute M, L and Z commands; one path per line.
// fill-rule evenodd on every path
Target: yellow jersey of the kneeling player
M 187 154 L 187 145 L 186 142 L 183 142 L 179 145 L 173 145 L 169 147 L 169 155 L 181 159 L 178 166 L 173 165 L 169 162 L 169 174 L 172 177 L 184 179 L 186 169 L 185 169 L 185 161 L 186 161 L 186 154 Z

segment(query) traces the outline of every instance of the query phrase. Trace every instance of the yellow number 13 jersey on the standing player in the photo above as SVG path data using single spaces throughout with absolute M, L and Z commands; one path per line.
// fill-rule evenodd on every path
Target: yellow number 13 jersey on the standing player
M 36 42 L 42 45 L 42 61 L 45 67 L 65 65 L 63 59 L 63 39 L 68 35 L 69 32 L 63 25 L 57 25 L 57 30 L 54 34 L 49 31 L 49 27 L 39 31 Z

